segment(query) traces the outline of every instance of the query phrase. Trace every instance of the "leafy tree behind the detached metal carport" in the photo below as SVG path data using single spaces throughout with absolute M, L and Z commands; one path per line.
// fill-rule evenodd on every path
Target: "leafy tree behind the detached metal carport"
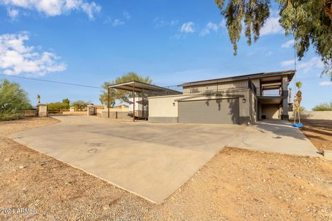
M 102 85 L 104 88 L 102 90 L 102 93 L 100 94 L 100 102 L 102 104 L 107 105 L 107 88 L 108 86 L 112 84 L 121 84 L 121 83 L 126 83 L 130 81 L 139 81 L 142 83 L 147 83 L 147 84 L 152 84 L 152 79 L 149 77 L 141 77 L 140 75 L 134 73 L 134 72 L 129 72 L 125 75 L 122 75 L 122 77 L 117 77 L 114 81 L 106 81 Z M 130 91 L 126 90 L 116 90 L 116 89 L 111 89 L 110 90 L 110 106 L 114 106 L 116 103 L 116 99 L 120 99 L 122 102 L 129 103 L 129 98 L 132 96 Z

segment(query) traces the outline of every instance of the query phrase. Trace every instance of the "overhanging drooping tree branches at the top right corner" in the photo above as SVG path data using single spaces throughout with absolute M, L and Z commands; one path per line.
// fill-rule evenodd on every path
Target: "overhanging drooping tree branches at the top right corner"
M 294 35 L 297 57 L 302 59 L 312 45 L 324 63 L 323 74 L 332 81 L 332 0 L 276 0 L 279 23 L 286 35 Z M 226 19 L 228 35 L 237 55 L 237 42 L 244 25 L 248 44 L 270 17 L 270 0 L 214 0 Z M 227 2 L 227 4 L 225 4 Z M 226 6 L 225 6 L 226 5 Z

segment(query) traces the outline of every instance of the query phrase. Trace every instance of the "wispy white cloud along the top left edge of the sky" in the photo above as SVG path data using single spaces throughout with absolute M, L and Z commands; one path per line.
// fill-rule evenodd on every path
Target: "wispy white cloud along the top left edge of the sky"
M 89 19 L 93 19 L 102 9 L 94 1 L 86 0 L 0 0 L 0 4 L 11 8 L 24 10 L 37 10 L 46 16 L 57 16 L 72 10 L 82 10 L 88 15 Z

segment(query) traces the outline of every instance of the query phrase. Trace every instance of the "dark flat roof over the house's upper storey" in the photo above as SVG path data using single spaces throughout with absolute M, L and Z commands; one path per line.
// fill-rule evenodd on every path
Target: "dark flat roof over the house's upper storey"
M 282 75 L 288 75 L 289 80 L 291 81 L 293 79 L 293 76 L 295 75 L 295 70 L 282 70 L 282 71 L 276 71 L 276 72 L 269 72 L 269 73 L 255 73 L 251 75 L 238 75 L 234 77 L 223 77 L 223 78 L 217 78 L 217 79 L 208 79 L 203 81 L 191 81 L 184 83 L 183 86 L 190 86 L 192 84 L 211 84 L 215 81 L 237 81 L 241 79 L 255 79 L 255 78 L 261 78 L 261 77 L 274 77 L 274 76 L 282 76 Z

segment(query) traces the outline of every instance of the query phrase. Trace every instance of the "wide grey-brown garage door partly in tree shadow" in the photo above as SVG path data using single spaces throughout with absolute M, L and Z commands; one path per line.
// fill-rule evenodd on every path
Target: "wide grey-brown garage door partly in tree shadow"
M 178 122 L 239 124 L 239 98 L 178 102 Z

